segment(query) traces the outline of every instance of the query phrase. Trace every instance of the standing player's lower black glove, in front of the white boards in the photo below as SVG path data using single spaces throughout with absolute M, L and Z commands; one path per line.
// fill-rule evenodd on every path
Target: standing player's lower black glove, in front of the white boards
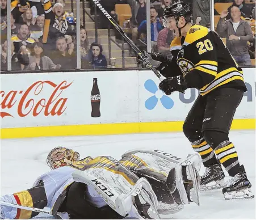
M 165 92 L 166 95 L 171 95 L 174 91 L 184 93 L 187 89 L 187 82 L 182 75 L 178 75 L 177 77 L 163 79 L 159 84 L 159 88 Z

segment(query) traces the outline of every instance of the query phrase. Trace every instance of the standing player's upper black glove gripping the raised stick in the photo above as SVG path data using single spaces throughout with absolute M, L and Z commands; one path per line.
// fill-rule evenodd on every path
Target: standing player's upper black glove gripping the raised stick
M 148 61 L 150 62 L 150 64 L 152 64 L 154 67 L 158 67 L 160 66 L 160 64 L 162 62 L 167 62 L 167 57 L 164 56 L 162 53 L 148 53 L 145 50 L 141 51 L 142 54 L 144 54 L 144 56 L 146 58 L 148 58 Z M 144 61 L 140 58 L 140 56 L 138 55 L 138 63 L 142 65 L 142 67 L 146 67 Z

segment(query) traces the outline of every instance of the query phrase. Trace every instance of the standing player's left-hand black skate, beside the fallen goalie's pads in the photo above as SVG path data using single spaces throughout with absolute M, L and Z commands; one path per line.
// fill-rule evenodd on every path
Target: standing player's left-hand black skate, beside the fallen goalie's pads
M 226 187 L 224 177 L 225 175 L 220 163 L 207 167 L 204 175 L 201 177 L 200 191 L 223 189 Z

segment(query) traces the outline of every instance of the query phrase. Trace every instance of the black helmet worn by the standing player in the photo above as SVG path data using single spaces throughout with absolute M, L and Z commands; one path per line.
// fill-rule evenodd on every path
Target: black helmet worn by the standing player
M 176 20 L 177 27 L 178 27 L 179 18 L 181 16 L 183 16 L 185 18 L 186 24 L 188 22 L 191 22 L 191 20 L 192 20 L 192 10 L 190 9 L 190 6 L 188 6 L 186 3 L 175 2 L 172 5 L 167 6 L 166 9 L 163 11 L 163 26 L 165 26 L 167 18 L 174 17 L 174 19 Z M 186 26 L 186 24 L 185 24 L 185 26 Z M 181 27 L 181 28 L 183 28 L 183 27 Z

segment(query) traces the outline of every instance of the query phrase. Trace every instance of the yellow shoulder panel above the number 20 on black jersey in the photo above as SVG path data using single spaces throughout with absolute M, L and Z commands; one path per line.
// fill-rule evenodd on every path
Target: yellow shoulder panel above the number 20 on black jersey
M 200 25 L 192 26 L 187 33 L 184 44 L 185 45 L 192 44 L 196 40 L 199 40 L 205 37 L 206 35 L 208 35 L 209 31 L 210 30 L 204 26 L 200 26 Z

